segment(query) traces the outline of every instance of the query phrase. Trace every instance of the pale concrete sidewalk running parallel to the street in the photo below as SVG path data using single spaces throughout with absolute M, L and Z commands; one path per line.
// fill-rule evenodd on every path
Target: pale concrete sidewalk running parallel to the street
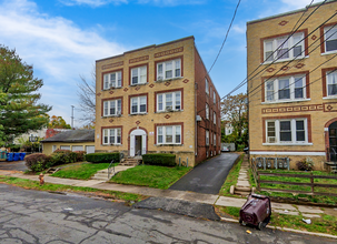
M 39 181 L 38 175 L 26 175 L 21 172 L 0 171 L 0 175 Z M 185 191 L 176 191 L 176 190 L 150 189 L 143 186 L 136 186 L 136 185 L 122 185 L 115 183 L 106 183 L 97 180 L 82 181 L 82 180 L 52 177 L 46 175 L 44 182 L 53 183 L 53 184 L 62 184 L 62 185 L 127 192 L 127 193 L 135 193 L 135 194 L 141 194 L 147 196 L 167 197 L 167 199 L 182 200 L 188 202 L 206 203 L 217 206 L 241 207 L 246 202 L 246 199 L 219 196 L 212 194 L 202 194 L 202 193 L 185 192 Z M 337 215 L 337 209 L 325 207 L 325 210 L 323 211 L 318 206 L 306 206 L 306 205 L 295 206 L 291 204 L 275 203 L 275 202 L 271 202 L 271 210 L 272 212 L 288 214 L 288 215 L 299 215 L 301 213 L 303 216 L 308 218 L 320 217 L 319 214 L 323 214 L 325 212 L 330 215 L 331 213 L 335 213 L 335 215 Z

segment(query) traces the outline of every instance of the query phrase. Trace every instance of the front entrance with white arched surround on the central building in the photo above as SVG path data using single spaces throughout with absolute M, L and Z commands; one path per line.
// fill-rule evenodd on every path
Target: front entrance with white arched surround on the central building
M 147 151 L 147 133 L 145 130 L 136 129 L 130 133 L 130 156 L 142 155 Z

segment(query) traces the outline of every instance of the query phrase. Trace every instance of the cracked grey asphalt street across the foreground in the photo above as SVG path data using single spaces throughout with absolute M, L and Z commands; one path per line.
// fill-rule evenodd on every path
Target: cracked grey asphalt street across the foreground
M 0 243 L 333 244 L 336 240 L 269 228 L 256 231 L 236 223 L 0 184 Z

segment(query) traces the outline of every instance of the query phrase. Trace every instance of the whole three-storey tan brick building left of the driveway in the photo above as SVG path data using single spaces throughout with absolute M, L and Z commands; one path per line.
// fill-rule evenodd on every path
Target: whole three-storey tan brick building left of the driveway
M 98 60 L 96 75 L 96 151 L 189 166 L 220 153 L 220 98 L 194 37 Z

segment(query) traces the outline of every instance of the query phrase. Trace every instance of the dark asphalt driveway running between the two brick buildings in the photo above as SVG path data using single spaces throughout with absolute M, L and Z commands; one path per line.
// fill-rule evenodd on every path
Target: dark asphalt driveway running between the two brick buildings
M 191 170 L 171 185 L 170 190 L 218 194 L 232 164 L 239 155 L 222 153 Z

